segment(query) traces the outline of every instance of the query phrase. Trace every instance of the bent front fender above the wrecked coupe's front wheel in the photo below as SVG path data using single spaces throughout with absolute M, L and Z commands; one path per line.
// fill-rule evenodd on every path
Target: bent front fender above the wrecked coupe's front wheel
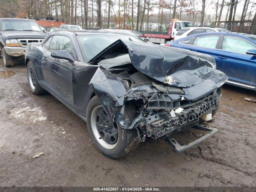
M 124 104 L 124 96 L 128 94 L 122 82 L 107 70 L 98 68 L 89 85 L 98 96 L 109 118 L 113 119 L 117 107 Z

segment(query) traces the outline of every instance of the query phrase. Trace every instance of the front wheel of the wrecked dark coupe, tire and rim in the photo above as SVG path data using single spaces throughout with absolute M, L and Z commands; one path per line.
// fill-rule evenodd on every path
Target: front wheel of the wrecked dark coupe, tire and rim
M 130 124 L 135 117 L 136 108 L 133 105 L 126 106 L 124 110 L 126 123 Z M 123 129 L 108 120 L 98 96 L 90 100 L 86 110 L 86 119 L 92 141 L 98 150 L 109 158 L 121 158 L 134 151 L 140 144 L 138 133 L 135 130 Z

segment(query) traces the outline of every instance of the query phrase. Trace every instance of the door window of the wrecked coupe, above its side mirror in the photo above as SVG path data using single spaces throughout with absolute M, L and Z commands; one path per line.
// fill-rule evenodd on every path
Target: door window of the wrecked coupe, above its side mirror
M 74 57 L 74 48 L 70 38 L 61 35 L 54 35 L 50 44 L 50 51 L 67 50 Z

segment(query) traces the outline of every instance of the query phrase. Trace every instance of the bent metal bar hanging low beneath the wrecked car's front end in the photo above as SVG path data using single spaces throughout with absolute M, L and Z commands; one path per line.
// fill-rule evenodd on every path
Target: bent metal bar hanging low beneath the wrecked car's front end
M 186 145 L 183 145 L 181 146 L 174 138 L 171 138 L 171 137 L 166 137 L 166 141 L 172 146 L 174 147 L 175 151 L 177 153 L 179 152 L 182 152 L 204 140 L 206 140 L 208 137 L 211 137 L 214 133 L 216 133 L 218 131 L 218 129 L 216 128 L 212 128 L 212 127 L 208 127 L 208 126 L 205 126 L 205 125 L 201 125 L 201 124 L 196 124 L 195 126 L 193 126 L 192 128 L 194 129 L 198 129 L 198 130 L 204 130 L 204 131 L 208 131 L 209 133 L 202 136 L 201 138 L 189 143 L 189 144 L 186 144 Z

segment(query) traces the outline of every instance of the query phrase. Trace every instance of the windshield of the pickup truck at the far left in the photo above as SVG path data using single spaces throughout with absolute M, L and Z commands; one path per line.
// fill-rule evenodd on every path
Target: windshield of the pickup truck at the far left
M 2 20 L 2 30 L 4 31 L 38 31 L 40 27 L 32 20 Z

